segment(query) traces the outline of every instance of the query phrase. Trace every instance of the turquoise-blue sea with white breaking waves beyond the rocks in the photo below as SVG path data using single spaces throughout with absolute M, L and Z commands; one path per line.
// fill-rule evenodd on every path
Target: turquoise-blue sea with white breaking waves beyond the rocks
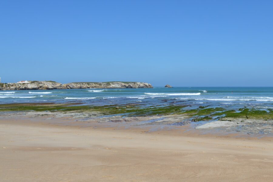
M 141 103 L 273 108 L 273 87 L 174 87 L 0 91 L 0 103 L 78 102 L 89 105 Z

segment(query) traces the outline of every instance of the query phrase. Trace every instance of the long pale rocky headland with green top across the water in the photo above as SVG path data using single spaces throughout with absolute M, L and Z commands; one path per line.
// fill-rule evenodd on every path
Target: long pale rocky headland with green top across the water
M 31 81 L 30 83 L 0 83 L 0 90 L 52 90 L 52 89 L 112 89 L 112 88 L 153 88 L 143 82 L 73 82 Z

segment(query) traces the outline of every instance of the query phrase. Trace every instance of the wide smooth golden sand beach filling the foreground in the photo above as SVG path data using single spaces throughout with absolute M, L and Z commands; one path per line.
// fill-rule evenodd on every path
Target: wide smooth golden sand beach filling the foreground
M 0 120 L 0 181 L 272 181 L 272 138 Z

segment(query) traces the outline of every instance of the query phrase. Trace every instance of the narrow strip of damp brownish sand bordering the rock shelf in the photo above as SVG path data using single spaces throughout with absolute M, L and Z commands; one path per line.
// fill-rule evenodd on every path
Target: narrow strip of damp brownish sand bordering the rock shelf
M 83 119 L 83 118 L 82 118 Z M 31 114 L 21 116 L 0 116 L 0 124 L 8 123 L 9 125 L 22 125 L 22 126 L 45 126 L 56 127 L 59 129 L 80 129 L 85 131 L 100 130 L 100 131 L 118 131 L 125 133 L 140 133 L 162 136 L 175 136 L 175 137 L 201 137 L 201 138 L 223 138 L 234 140 L 257 140 L 257 141 L 273 141 L 272 135 L 255 134 L 249 135 L 244 132 L 236 131 L 223 131 L 223 128 L 215 130 L 211 129 L 195 129 L 192 125 L 185 124 L 183 126 L 155 126 L 155 125 L 128 125 L 127 123 L 113 123 L 98 120 L 81 120 L 81 118 L 72 118 L 71 116 L 55 117 L 51 115 L 35 116 Z M 272 149 L 273 150 L 273 149 Z

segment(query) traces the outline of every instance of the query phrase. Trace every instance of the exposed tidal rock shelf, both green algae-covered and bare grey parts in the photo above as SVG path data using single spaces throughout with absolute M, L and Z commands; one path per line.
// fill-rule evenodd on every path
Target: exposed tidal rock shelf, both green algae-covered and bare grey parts
M 190 109 L 190 110 L 189 110 Z M 1 104 L 0 118 L 45 116 L 49 120 L 69 118 L 83 127 L 150 128 L 187 130 L 196 133 L 232 134 L 237 136 L 272 137 L 272 111 L 241 108 L 238 111 L 221 107 L 190 108 L 184 104 L 145 106 L 139 103 L 90 106 L 83 102 Z

